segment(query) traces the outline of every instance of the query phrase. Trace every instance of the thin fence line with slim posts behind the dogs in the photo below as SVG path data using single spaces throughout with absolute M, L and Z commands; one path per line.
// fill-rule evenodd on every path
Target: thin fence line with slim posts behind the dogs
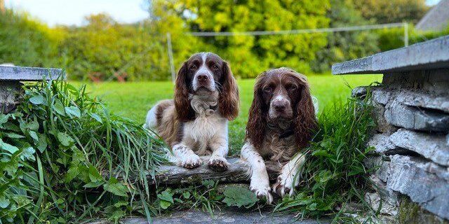
M 389 23 L 381 25 L 362 25 L 353 27 L 332 27 L 332 28 L 314 28 L 314 29 L 291 29 L 279 31 L 222 31 L 222 32 L 187 32 L 187 35 L 206 37 L 206 36 L 266 36 L 266 35 L 297 35 L 314 33 L 335 33 L 342 31 L 366 31 L 373 29 L 391 29 L 403 27 L 404 46 L 408 46 L 408 24 L 407 22 Z M 173 59 L 173 49 L 170 33 L 167 33 L 167 51 L 170 62 L 170 73 L 173 82 L 175 81 L 175 64 Z

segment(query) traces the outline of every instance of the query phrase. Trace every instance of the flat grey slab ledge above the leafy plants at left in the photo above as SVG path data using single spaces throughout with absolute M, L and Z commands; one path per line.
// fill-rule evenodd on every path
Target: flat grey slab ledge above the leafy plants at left
M 62 69 L 0 66 L 0 81 L 1 80 L 40 81 L 43 79 L 55 80 L 60 77 L 62 79 L 65 79 L 65 73 L 62 71 Z

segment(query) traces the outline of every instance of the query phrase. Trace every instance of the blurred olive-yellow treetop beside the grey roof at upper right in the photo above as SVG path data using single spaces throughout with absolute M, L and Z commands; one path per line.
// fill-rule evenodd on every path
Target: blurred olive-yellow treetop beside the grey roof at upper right
M 363 18 L 377 23 L 417 22 L 429 10 L 425 0 L 354 1 Z

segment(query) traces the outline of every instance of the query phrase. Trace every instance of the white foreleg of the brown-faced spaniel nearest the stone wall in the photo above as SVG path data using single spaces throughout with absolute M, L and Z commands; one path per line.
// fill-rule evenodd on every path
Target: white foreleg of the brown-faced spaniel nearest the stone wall
M 302 165 L 304 165 L 304 155 L 297 153 L 286 165 L 282 167 L 281 174 L 273 185 L 273 191 L 282 197 L 286 194 L 292 196 L 295 187 L 300 183 Z

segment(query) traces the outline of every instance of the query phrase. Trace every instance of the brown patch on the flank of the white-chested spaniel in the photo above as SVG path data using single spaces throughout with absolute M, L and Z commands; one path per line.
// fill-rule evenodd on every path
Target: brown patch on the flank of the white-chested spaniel
M 156 109 L 157 131 L 168 146 L 174 146 L 182 140 L 182 122 L 175 116 L 173 100 L 159 102 Z

